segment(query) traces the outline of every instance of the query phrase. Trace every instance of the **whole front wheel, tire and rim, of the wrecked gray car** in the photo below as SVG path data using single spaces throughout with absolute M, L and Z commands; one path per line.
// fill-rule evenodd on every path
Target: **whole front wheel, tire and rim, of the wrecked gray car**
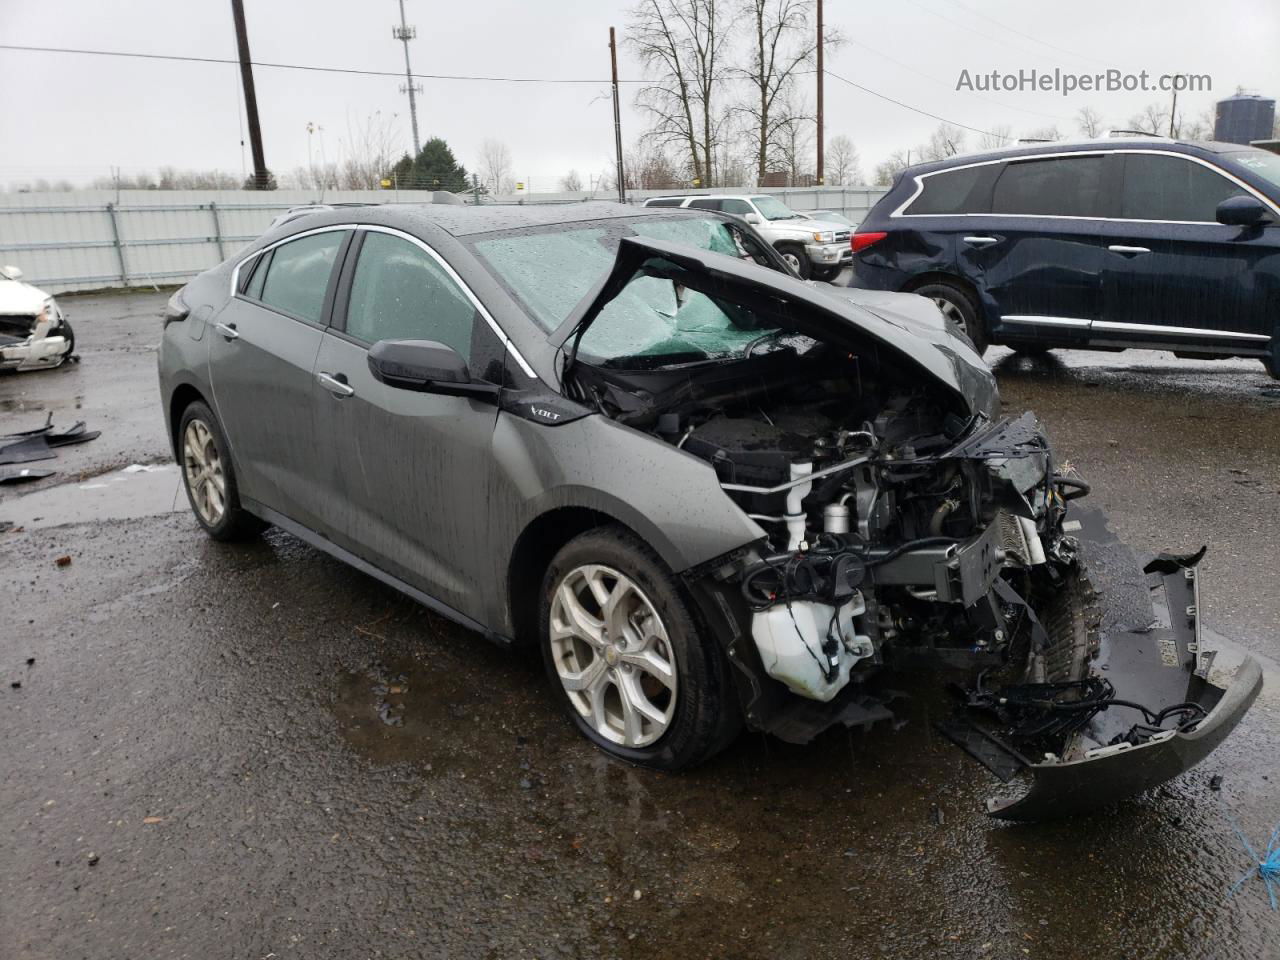
M 680 771 L 737 733 L 723 654 L 671 571 L 631 532 L 600 527 L 561 548 L 543 580 L 539 631 L 561 707 L 604 753 Z

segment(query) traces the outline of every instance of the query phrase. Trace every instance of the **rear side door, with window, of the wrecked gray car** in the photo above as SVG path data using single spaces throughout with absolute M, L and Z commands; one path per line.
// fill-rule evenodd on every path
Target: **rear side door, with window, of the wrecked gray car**
M 312 367 L 349 237 L 347 228 L 317 230 L 243 264 L 211 332 L 214 403 L 241 494 L 311 527 L 324 495 Z

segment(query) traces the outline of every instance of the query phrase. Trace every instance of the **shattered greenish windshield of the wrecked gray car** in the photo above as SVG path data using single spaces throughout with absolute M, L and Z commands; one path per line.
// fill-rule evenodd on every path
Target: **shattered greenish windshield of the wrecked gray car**
M 521 230 L 479 239 L 474 248 L 549 332 L 609 273 L 623 237 L 744 255 L 724 220 L 691 216 Z M 628 358 L 645 365 L 719 360 L 742 355 L 776 329 L 740 306 L 669 279 L 636 275 L 586 329 L 579 356 L 612 365 Z

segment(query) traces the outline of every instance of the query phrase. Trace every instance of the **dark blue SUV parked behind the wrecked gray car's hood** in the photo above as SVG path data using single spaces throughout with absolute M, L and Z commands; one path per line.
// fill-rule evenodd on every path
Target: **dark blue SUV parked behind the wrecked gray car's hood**
M 1042 143 L 906 169 L 852 238 L 854 287 L 933 298 L 1006 343 L 1258 357 L 1280 376 L 1280 155 Z

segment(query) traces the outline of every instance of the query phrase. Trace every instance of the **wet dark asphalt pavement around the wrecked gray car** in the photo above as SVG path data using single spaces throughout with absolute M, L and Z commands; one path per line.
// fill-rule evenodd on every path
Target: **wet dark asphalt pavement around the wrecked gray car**
M 992 351 L 1123 540 L 1210 544 L 1207 623 L 1267 684 L 1189 774 L 1010 826 L 928 698 L 899 731 L 748 735 L 660 776 L 580 740 L 532 657 L 279 531 L 209 541 L 172 467 L 122 471 L 169 458 L 164 300 L 68 298 L 82 362 L 0 376 L 0 433 L 104 431 L 0 488 L 0 956 L 1280 956 L 1261 881 L 1228 896 L 1233 818 L 1256 845 L 1280 820 L 1261 365 Z

